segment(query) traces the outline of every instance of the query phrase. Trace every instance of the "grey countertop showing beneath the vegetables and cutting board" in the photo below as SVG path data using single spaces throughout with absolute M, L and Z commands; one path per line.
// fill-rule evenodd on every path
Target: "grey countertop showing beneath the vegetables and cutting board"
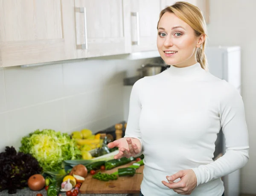
M 0 196 L 36 196 L 37 193 L 41 193 L 43 196 L 47 196 L 46 190 L 39 190 L 39 191 L 33 191 L 29 188 L 24 188 L 21 190 L 17 190 L 17 193 L 15 194 L 8 194 L 8 190 L 3 190 L 0 192 Z M 78 196 L 132 196 L 131 194 L 81 194 L 79 193 Z M 66 193 L 61 192 L 61 196 L 66 196 Z

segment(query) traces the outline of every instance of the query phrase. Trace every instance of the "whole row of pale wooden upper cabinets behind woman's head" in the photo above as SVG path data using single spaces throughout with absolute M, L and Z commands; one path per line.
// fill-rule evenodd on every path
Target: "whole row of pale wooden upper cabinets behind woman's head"
M 186 1 L 209 11 L 209 0 Z M 159 14 L 173 3 L 0 0 L 0 67 L 157 51 Z

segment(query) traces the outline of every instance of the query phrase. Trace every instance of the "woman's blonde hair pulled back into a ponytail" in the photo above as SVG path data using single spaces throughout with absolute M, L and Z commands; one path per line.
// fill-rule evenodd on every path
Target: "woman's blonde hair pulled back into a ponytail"
M 178 18 L 191 26 L 195 30 L 196 36 L 205 34 L 207 37 L 207 26 L 204 20 L 204 16 L 202 14 L 202 11 L 197 6 L 194 6 L 184 1 L 178 1 L 172 6 L 166 7 L 160 12 L 157 28 L 161 17 L 166 12 L 174 13 Z M 202 44 L 203 46 L 198 48 L 196 52 L 196 59 L 204 70 L 208 70 L 207 58 L 204 54 L 206 44 L 207 43 L 205 38 L 204 43 Z

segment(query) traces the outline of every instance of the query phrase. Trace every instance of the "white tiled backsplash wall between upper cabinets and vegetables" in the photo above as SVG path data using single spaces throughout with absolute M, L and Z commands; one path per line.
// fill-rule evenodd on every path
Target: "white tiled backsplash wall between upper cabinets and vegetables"
M 124 119 L 123 78 L 147 60 L 76 60 L 0 68 L 0 152 L 36 129 L 93 132 Z

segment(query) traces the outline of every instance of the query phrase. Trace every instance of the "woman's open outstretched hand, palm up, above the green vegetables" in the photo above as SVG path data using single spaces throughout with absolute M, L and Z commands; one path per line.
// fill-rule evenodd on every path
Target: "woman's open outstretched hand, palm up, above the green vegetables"
M 139 139 L 123 137 L 108 144 L 108 148 L 118 147 L 119 153 L 114 156 L 114 159 L 121 159 L 122 157 L 129 158 L 136 156 L 141 151 L 141 143 Z

